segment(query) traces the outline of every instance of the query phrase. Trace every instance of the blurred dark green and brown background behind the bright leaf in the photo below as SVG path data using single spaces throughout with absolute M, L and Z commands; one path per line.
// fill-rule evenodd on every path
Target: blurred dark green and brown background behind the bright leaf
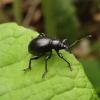
M 67 38 L 69 44 L 91 34 L 72 53 L 100 96 L 100 0 L 0 0 L 0 23 L 6 22 Z

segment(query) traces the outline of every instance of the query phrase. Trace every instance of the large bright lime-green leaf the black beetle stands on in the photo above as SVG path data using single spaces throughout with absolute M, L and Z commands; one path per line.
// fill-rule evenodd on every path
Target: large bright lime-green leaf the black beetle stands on
M 82 65 L 68 52 L 61 51 L 72 71 L 53 51 L 44 79 L 44 57 L 24 73 L 31 57 L 27 46 L 37 35 L 15 23 L 0 25 L 0 100 L 99 100 Z

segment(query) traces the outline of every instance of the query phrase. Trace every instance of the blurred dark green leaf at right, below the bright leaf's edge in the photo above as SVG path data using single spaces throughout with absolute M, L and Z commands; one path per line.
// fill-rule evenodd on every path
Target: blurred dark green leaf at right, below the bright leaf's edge
M 96 88 L 97 93 L 100 95 L 100 60 L 98 59 L 88 59 L 80 60 L 84 65 L 85 72 L 89 77 L 90 81 Z

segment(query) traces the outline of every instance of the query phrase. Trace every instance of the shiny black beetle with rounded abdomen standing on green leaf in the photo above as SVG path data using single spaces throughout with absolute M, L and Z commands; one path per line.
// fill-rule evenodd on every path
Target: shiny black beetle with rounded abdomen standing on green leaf
M 90 35 L 88 36 L 90 37 Z M 83 38 L 82 38 L 83 39 Z M 82 40 L 80 39 L 80 40 Z M 38 37 L 35 39 L 31 40 L 31 42 L 28 45 L 28 51 L 31 53 L 32 56 L 29 60 L 29 66 L 28 68 L 24 69 L 24 71 L 31 70 L 31 62 L 32 60 L 39 59 L 42 56 L 45 56 L 45 72 L 42 75 L 42 78 L 46 75 L 48 72 L 47 68 L 47 62 L 51 58 L 52 55 L 52 50 L 54 49 L 57 53 L 57 55 L 64 60 L 65 62 L 68 63 L 68 66 L 70 70 L 72 71 L 70 63 L 63 57 L 62 53 L 59 51 L 61 49 L 64 49 L 66 51 L 70 51 L 70 48 L 75 45 L 77 42 L 80 40 L 75 41 L 72 43 L 70 46 L 67 44 L 67 39 L 64 40 L 59 40 L 59 39 L 51 39 L 47 37 L 44 33 L 41 33 Z

